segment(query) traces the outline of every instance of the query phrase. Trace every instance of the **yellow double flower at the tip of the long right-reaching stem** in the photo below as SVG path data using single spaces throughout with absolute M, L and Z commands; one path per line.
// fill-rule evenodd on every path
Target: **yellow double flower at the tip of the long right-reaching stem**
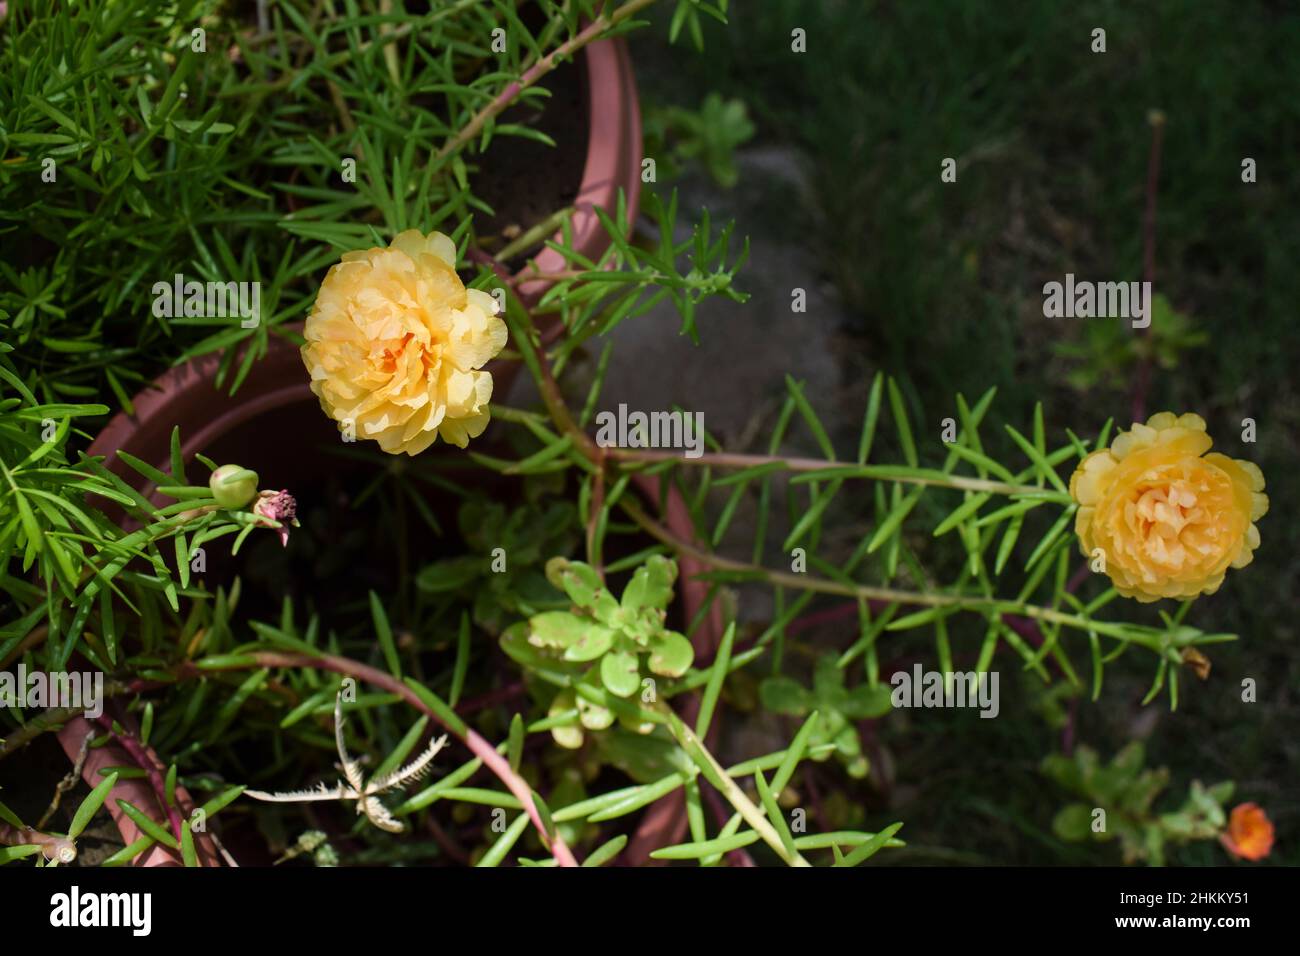
M 1100 549 L 1115 591 L 1143 602 L 1213 594 L 1260 546 L 1264 473 L 1209 451 L 1200 415 L 1162 411 L 1084 458 L 1070 494 L 1088 558 Z M 1204 455 L 1204 457 L 1202 457 Z

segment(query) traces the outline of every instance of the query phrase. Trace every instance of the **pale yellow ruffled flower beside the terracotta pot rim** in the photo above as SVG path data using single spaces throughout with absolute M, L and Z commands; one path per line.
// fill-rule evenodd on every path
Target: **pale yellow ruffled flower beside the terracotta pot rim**
M 506 324 L 455 264 L 451 239 L 415 229 L 344 252 L 307 319 L 303 363 L 321 408 L 389 454 L 419 454 L 439 434 L 464 447 L 488 427 L 491 373 L 480 369 Z

